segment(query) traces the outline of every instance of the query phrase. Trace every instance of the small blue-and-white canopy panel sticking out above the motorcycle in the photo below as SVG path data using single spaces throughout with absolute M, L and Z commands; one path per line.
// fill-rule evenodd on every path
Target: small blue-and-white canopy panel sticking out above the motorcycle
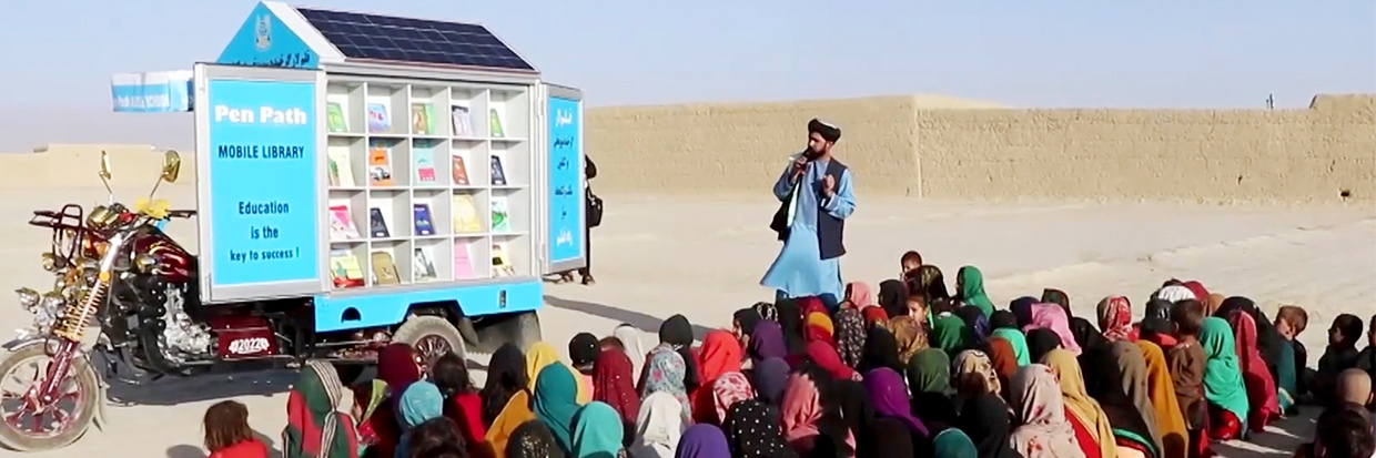
M 117 113 L 191 111 L 191 72 L 120 73 L 110 77 Z

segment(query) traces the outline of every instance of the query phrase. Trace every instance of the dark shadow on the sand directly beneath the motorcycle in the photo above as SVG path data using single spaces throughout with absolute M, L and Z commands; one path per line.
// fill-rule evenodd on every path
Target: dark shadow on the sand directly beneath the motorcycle
M 164 377 L 144 384 L 110 381 L 107 396 L 116 406 L 176 406 L 237 396 L 272 396 L 292 388 L 294 370 L 271 370 L 242 374 L 208 374 Z

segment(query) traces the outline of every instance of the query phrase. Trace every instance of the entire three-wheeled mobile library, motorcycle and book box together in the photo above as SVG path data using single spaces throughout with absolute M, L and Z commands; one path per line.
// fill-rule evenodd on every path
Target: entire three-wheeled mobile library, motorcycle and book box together
M 542 276 L 586 261 L 582 96 L 480 25 L 264 1 L 217 62 L 111 92 L 117 111 L 194 111 L 197 209 L 111 193 L 34 212 L 56 281 L 17 292 L 33 323 L 0 378 L 48 369 L 0 406 L 28 418 L 0 422 L 12 450 L 77 440 L 102 417 L 100 378 L 524 345 Z M 157 183 L 180 166 L 168 151 Z M 162 231 L 189 217 L 195 256 Z

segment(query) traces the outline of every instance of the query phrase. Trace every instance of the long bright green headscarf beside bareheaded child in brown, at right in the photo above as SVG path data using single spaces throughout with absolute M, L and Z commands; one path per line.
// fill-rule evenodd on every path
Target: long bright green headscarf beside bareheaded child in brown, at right
M 1233 327 L 1216 316 L 1204 319 L 1200 327 L 1200 347 L 1204 348 L 1204 399 L 1247 418 L 1247 388 L 1243 384 L 1243 370 L 1237 363 L 1237 349 L 1233 344 Z

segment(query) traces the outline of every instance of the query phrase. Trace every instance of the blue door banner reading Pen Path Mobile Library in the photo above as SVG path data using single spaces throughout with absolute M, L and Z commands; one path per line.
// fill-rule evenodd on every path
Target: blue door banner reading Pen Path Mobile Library
M 212 286 L 319 278 L 314 83 L 211 80 Z M 205 210 L 205 209 L 202 209 Z

